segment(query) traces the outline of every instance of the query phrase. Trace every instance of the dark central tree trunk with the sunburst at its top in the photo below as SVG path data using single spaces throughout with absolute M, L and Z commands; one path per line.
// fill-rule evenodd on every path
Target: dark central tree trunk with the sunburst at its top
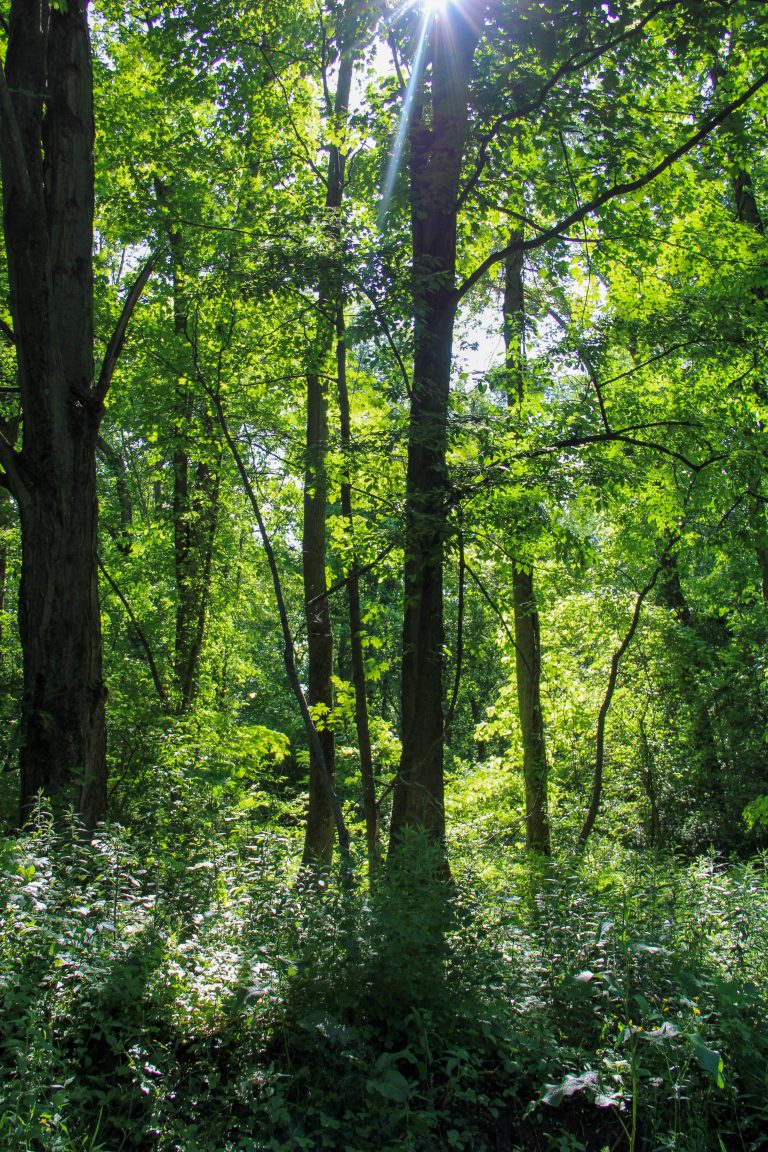
M 390 849 L 406 828 L 424 827 L 436 841 L 446 832 L 443 552 L 450 509 L 446 448 L 457 303 L 457 197 L 470 70 L 480 28 L 480 9 L 474 7 L 449 5 L 432 17 L 431 85 L 425 70 L 409 131 L 413 378 L 405 484 L 402 753 Z

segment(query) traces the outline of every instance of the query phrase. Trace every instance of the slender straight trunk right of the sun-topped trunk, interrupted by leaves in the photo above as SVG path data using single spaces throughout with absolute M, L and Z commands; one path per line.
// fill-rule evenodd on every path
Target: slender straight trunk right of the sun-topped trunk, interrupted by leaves
M 523 236 L 520 234 L 520 241 Z M 509 385 L 508 404 L 523 400 L 525 374 L 525 285 L 523 249 L 514 250 L 505 262 L 504 343 Z M 547 744 L 541 711 L 541 635 L 533 584 L 533 569 L 515 561 L 512 570 L 515 605 L 515 668 L 517 707 L 523 740 L 523 781 L 525 787 L 525 846 L 530 851 L 549 855 L 549 811 L 547 804 Z

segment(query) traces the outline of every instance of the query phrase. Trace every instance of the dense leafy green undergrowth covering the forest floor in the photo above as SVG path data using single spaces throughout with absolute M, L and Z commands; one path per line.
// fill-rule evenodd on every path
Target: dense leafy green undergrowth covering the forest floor
M 768 877 L 603 848 L 372 887 L 40 812 L 0 857 L 7 1152 L 758 1150 Z

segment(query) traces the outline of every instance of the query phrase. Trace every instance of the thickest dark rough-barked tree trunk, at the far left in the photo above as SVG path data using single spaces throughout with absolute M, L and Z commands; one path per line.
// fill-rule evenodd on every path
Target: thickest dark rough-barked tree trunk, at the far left
M 104 814 L 93 381 L 93 112 L 86 2 L 10 6 L 0 74 L 3 226 L 23 448 L 0 449 L 22 529 L 21 813 L 38 791 Z

